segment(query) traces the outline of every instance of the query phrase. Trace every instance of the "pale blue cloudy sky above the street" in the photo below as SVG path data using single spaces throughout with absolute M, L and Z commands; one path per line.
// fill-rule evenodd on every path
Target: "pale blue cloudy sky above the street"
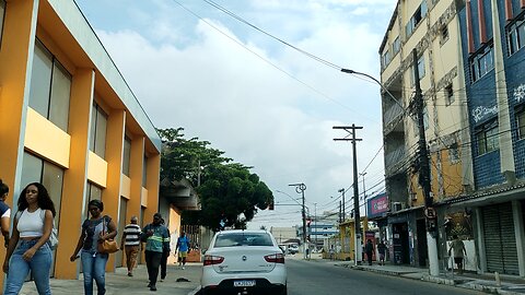
M 338 212 L 341 188 L 352 210 L 352 145 L 334 141 L 351 137 L 335 126 L 363 128 L 361 202 L 384 191 L 380 86 L 340 69 L 380 79 L 397 1 L 75 1 L 156 128 L 182 127 L 266 182 L 275 210 L 248 228 L 302 223 L 292 184 L 311 215 Z

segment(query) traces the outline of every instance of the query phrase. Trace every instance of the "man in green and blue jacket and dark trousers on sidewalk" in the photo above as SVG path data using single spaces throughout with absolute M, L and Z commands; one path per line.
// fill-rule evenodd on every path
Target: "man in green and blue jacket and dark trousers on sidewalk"
M 159 267 L 161 266 L 162 252 L 164 247 L 170 247 L 170 233 L 167 228 L 161 224 L 161 213 L 153 215 L 153 222 L 142 228 L 141 239 L 145 241 L 145 266 L 148 268 L 148 276 L 150 291 L 156 291 L 156 279 L 159 276 Z

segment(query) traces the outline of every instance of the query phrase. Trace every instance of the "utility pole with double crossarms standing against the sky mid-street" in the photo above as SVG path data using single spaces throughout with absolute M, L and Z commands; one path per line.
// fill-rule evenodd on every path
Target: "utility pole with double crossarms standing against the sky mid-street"
M 354 241 L 355 241 L 355 258 L 354 263 L 355 266 L 360 266 L 362 261 L 362 248 L 361 248 L 361 217 L 359 212 L 359 188 L 358 188 L 358 151 L 355 146 L 357 141 L 361 141 L 361 139 L 355 139 L 355 130 L 363 129 L 362 127 L 357 127 L 352 123 L 352 126 L 334 126 L 334 129 L 342 129 L 352 135 L 351 139 L 347 137 L 342 139 L 334 139 L 335 141 L 351 141 L 352 142 L 352 153 L 353 153 L 353 219 L 354 219 Z M 351 130 L 351 131 L 350 131 Z

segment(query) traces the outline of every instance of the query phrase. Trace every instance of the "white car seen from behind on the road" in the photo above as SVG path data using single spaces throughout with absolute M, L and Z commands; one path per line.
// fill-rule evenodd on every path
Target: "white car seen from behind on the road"
M 266 231 L 225 231 L 205 253 L 202 294 L 287 294 L 284 255 Z

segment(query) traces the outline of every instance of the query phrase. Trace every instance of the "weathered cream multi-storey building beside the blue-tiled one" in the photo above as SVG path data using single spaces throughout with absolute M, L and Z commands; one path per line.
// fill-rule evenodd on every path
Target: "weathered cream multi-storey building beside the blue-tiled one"
M 386 88 L 382 92 L 382 113 L 390 209 L 385 233 L 389 257 L 398 264 L 429 264 L 425 203 L 419 184 L 419 114 L 415 111 L 418 81 L 439 223 L 451 211 L 442 202 L 474 189 L 457 14 L 460 2 L 398 1 L 380 48 L 381 82 Z M 419 76 L 415 76 L 415 67 Z M 440 226 L 440 259 L 445 259 L 450 238 Z

